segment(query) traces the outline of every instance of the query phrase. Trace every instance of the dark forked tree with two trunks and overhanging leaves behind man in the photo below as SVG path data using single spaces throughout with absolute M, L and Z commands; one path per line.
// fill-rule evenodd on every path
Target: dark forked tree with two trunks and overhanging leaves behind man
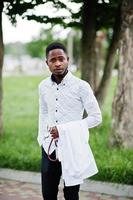
M 47 2 L 50 2 L 47 1 Z M 68 0 L 68 2 L 70 2 Z M 59 23 L 64 27 L 80 28 L 82 31 L 81 38 L 81 74 L 82 79 L 88 81 L 96 92 L 96 96 L 100 104 L 103 104 L 110 77 L 114 65 L 115 53 L 119 44 L 119 4 L 120 0 L 110 0 L 106 3 L 104 0 L 72 0 L 71 3 L 80 4 L 80 9 L 73 12 L 70 7 L 61 1 L 54 2 L 54 7 L 65 8 L 70 13 L 69 17 L 52 17 L 49 16 L 27 16 L 30 20 L 36 20 L 41 23 L 51 22 L 52 24 Z M 106 14 L 108 13 L 108 15 Z M 115 17 L 116 16 L 116 17 Z M 66 21 L 67 20 L 67 21 Z M 114 26 L 114 28 L 113 28 Z M 113 35 L 108 49 L 106 64 L 104 67 L 103 77 L 100 85 L 97 88 L 95 84 L 95 41 L 96 31 L 101 28 L 113 28 Z

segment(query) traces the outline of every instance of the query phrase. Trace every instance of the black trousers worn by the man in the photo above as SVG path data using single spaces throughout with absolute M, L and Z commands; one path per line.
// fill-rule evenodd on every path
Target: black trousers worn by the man
M 51 158 L 55 159 L 55 152 L 51 154 Z M 61 174 L 61 163 L 58 161 L 50 161 L 42 148 L 41 179 L 44 200 L 57 200 Z M 65 200 L 79 200 L 79 188 L 80 185 L 69 187 L 64 185 L 63 192 Z

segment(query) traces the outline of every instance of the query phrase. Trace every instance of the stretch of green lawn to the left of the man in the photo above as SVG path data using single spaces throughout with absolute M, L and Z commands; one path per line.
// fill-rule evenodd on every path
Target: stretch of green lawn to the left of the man
M 37 144 L 38 83 L 43 77 L 4 79 L 4 136 L 0 165 L 23 170 L 40 169 Z

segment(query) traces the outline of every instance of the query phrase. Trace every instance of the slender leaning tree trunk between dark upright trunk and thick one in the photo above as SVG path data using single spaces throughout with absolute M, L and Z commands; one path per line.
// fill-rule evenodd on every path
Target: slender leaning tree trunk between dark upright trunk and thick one
M 103 76 L 99 84 L 99 87 L 95 93 L 96 98 L 101 106 L 103 105 L 105 97 L 107 95 L 107 90 L 110 83 L 112 70 L 115 64 L 116 50 L 119 47 L 119 40 L 120 40 L 120 5 L 118 6 L 116 14 L 112 41 L 110 43 L 109 50 L 107 53 Z

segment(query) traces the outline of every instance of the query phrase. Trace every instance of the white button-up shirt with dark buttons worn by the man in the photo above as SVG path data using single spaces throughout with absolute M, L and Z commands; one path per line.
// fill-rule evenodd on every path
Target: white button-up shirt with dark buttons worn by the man
M 102 116 L 90 85 L 68 72 L 60 84 L 51 77 L 39 84 L 38 142 L 46 153 L 51 141 L 48 129 L 71 121 L 82 120 L 84 109 L 88 128 L 101 123 Z M 53 143 L 50 153 L 55 150 Z

